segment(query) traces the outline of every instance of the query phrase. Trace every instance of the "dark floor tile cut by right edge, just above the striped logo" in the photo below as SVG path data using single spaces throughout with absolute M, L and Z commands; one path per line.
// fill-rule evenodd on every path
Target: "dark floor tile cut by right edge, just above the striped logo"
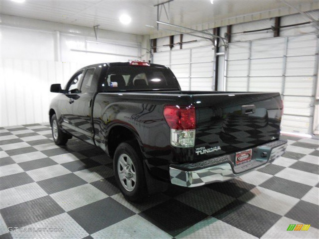
M 313 203 L 301 200 L 285 216 L 319 229 L 319 207 Z

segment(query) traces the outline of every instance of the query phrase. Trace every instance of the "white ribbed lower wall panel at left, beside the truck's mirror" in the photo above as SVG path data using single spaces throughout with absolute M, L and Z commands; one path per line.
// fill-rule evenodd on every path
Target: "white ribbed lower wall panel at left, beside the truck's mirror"
M 1 126 L 48 122 L 50 85 L 67 83 L 77 63 L 2 59 Z

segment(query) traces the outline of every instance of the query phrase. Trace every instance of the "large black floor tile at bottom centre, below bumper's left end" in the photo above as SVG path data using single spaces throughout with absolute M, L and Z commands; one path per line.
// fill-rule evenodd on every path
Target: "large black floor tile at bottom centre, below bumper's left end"
M 207 217 L 207 214 L 175 199 L 147 209 L 139 215 L 172 236 L 180 234 Z

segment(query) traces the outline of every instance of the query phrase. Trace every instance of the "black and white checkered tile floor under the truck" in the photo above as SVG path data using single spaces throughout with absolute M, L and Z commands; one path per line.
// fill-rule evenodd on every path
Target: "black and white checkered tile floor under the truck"
M 267 167 L 225 183 L 172 186 L 134 204 L 102 150 L 77 139 L 58 147 L 48 124 L 0 132 L 3 239 L 319 237 L 317 139 L 283 135 L 287 151 Z M 289 224 L 311 226 L 286 231 Z

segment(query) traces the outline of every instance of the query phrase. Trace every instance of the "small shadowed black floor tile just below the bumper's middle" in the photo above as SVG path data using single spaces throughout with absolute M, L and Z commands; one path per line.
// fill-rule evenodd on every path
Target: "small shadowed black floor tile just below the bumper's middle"
M 226 194 L 228 196 L 231 196 L 233 198 L 239 198 L 256 186 L 249 183 L 245 183 L 237 179 L 233 179 L 231 181 L 227 181 L 223 183 L 208 184 L 206 185 L 206 187 L 211 188 L 215 191 L 221 192 L 223 194 Z

